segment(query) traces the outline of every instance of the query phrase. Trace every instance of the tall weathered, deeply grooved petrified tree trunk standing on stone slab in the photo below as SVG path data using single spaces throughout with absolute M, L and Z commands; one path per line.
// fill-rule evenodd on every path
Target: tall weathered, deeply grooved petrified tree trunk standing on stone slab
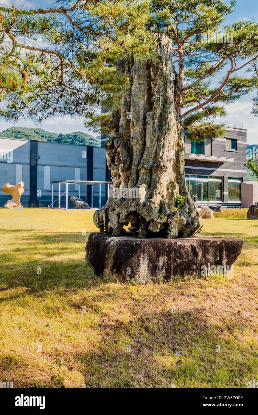
M 124 225 L 140 237 L 193 235 L 202 218 L 186 189 L 181 120 L 175 111 L 177 77 L 172 42 L 160 35 L 157 58 L 121 59 L 117 74 L 131 88 L 112 112 L 106 158 L 112 183 L 106 205 L 94 214 L 101 232 L 120 235 Z M 185 198 L 178 206 L 178 195 Z

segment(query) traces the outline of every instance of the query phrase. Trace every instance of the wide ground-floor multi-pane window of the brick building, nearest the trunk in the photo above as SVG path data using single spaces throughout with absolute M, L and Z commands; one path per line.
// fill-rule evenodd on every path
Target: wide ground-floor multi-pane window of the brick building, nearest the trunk
M 186 187 L 198 202 L 222 202 L 222 176 L 186 174 Z

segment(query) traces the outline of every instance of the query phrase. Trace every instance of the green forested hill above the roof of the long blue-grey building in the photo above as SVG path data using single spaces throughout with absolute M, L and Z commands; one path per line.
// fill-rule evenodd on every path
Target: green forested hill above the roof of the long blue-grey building
M 0 132 L 0 137 L 12 137 L 21 140 L 38 140 L 83 146 L 100 146 L 100 140 L 82 131 L 68 134 L 56 134 L 42 128 L 10 127 Z

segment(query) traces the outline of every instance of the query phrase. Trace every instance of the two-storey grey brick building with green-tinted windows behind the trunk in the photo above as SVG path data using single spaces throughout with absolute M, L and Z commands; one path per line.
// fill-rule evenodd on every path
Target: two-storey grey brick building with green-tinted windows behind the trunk
M 185 131 L 185 174 L 198 205 L 241 206 L 246 181 L 246 129 L 225 127 L 223 137 L 195 143 Z

